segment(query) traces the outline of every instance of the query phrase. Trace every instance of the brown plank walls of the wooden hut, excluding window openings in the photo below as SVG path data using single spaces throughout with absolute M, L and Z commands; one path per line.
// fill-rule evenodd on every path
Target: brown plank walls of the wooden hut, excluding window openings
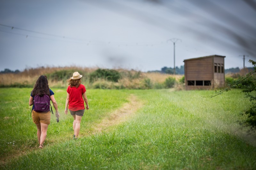
M 186 90 L 212 89 L 225 86 L 225 73 L 215 73 L 214 63 L 223 64 L 224 57 L 221 55 L 210 55 L 199 58 L 184 60 Z M 188 85 L 188 81 L 201 81 L 203 85 Z M 205 81 L 211 81 L 211 85 L 204 85 Z

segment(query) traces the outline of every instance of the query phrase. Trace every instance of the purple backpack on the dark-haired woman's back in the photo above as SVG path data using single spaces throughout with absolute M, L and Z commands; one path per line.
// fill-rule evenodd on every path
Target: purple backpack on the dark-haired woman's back
M 43 96 L 36 95 L 34 97 L 34 111 L 36 112 L 49 112 L 50 110 L 50 97 L 47 94 Z M 51 106 L 52 109 L 52 106 Z M 52 112 L 53 114 L 53 112 Z

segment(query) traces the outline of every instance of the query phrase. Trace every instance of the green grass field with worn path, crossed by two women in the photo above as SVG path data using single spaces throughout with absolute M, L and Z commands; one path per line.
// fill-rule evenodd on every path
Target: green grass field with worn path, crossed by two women
M 88 90 L 73 140 L 66 89 L 52 89 L 61 117 L 52 115 L 43 149 L 31 90 L 0 89 L 0 169 L 256 169 L 255 134 L 236 122 L 250 105 L 240 90 Z

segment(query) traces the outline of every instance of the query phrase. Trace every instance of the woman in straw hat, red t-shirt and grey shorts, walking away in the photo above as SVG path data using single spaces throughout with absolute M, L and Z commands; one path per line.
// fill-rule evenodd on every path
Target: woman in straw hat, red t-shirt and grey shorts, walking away
M 68 114 L 68 109 L 70 114 L 74 118 L 73 129 L 74 135 L 73 139 L 77 139 L 79 131 L 80 131 L 80 122 L 82 116 L 84 115 L 84 102 L 86 104 L 86 110 L 89 109 L 88 99 L 86 97 L 86 89 L 85 86 L 82 85 L 81 78 L 83 76 L 78 72 L 73 73 L 73 77 L 69 78 L 68 81 L 68 89 L 67 89 L 67 99 L 65 106 L 65 114 Z

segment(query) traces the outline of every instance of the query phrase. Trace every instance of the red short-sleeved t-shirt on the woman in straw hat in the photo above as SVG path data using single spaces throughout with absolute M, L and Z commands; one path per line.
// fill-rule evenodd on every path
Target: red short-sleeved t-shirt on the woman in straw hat
M 83 94 L 86 92 L 85 86 L 80 84 L 77 88 L 68 86 L 67 92 L 69 94 L 68 108 L 71 111 L 83 110 L 84 99 Z

